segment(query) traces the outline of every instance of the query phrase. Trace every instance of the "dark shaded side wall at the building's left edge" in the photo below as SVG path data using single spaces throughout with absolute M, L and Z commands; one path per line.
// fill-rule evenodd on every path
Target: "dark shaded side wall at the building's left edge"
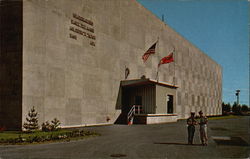
M 22 123 L 22 1 L 0 1 L 0 127 Z

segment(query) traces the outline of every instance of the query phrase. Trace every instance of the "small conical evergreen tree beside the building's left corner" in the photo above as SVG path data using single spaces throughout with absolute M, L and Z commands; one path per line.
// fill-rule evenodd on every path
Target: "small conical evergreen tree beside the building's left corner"
M 31 110 L 28 113 L 28 117 L 26 117 L 26 121 L 23 124 L 23 127 L 28 131 L 28 132 L 32 132 L 35 130 L 39 129 L 38 126 L 38 117 L 37 117 L 38 113 L 36 112 L 34 106 L 31 108 Z

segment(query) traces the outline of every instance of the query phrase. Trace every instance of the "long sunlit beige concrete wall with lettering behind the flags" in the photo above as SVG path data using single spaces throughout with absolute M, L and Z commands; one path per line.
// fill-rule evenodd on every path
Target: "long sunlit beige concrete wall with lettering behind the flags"
M 86 33 L 95 39 L 80 35 Z M 121 111 L 116 101 L 125 67 L 128 79 L 154 79 L 173 46 L 175 73 L 173 63 L 162 65 L 159 80 L 172 83 L 176 75 L 178 117 L 200 109 L 221 113 L 220 66 L 134 0 L 24 0 L 23 35 L 23 121 L 35 106 L 40 122 L 106 124 L 108 116 L 112 123 Z M 158 37 L 156 54 L 143 63 Z

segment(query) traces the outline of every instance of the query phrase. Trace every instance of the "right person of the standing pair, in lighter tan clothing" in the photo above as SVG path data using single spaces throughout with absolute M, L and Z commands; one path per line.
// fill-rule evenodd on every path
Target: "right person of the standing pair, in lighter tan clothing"
M 201 139 L 201 143 L 203 146 L 207 146 L 207 122 L 208 119 L 206 116 L 203 115 L 202 111 L 199 111 L 199 115 L 200 115 L 200 121 L 199 121 L 199 125 L 200 125 L 200 139 Z

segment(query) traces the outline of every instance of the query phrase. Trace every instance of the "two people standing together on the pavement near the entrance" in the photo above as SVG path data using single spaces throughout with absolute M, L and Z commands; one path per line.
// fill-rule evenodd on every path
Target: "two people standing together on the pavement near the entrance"
M 198 119 L 198 120 L 197 120 Z M 199 111 L 199 118 L 195 117 L 195 113 L 191 112 L 191 116 L 187 119 L 188 128 L 188 144 L 193 144 L 195 125 L 200 125 L 200 139 L 203 146 L 207 146 L 207 122 L 208 119 Z

